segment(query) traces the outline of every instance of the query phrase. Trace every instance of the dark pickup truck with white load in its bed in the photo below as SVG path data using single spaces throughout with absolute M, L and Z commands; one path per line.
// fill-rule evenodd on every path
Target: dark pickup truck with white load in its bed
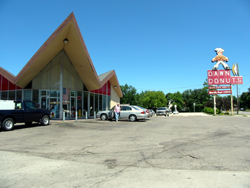
M 49 125 L 50 118 L 49 110 L 39 109 L 32 101 L 0 100 L 0 129 L 5 131 L 13 130 L 15 123 Z

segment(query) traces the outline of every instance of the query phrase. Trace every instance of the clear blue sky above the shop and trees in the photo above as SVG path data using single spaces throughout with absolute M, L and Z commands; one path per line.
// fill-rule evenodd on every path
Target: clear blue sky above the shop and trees
M 71 12 L 97 74 L 139 93 L 202 88 L 218 47 L 250 87 L 249 0 L 0 0 L 0 66 L 17 75 Z

